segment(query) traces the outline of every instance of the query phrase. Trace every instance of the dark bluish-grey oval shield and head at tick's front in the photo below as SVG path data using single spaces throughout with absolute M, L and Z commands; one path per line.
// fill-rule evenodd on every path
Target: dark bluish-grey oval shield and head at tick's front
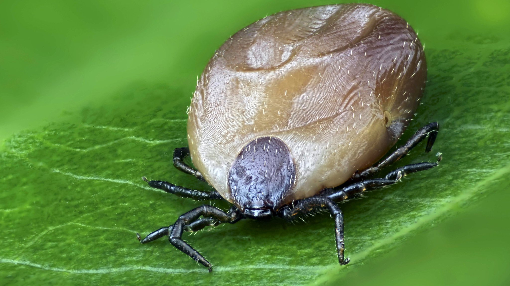
M 246 145 L 228 172 L 234 204 L 247 218 L 270 218 L 292 192 L 296 168 L 289 148 L 276 137 Z

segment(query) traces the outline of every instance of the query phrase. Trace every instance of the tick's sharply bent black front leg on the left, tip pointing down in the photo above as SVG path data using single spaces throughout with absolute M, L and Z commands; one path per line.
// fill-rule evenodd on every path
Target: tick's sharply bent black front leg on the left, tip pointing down
M 208 205 L 203 205 L 201 207 L 198 207 L 196 209 L 193 209 L 179 217 L 177 221 L 173 224 L 172 230 L 170 231 L 170 237 L 169 241 L 170 243 L 175 246 L 177 249 L 183 251 L 184 253 L 188 254 L 192 259 L 194 259 L 196 262 L 201 263 L 203 266 L 209 268 L 209 272 L 212 271 L 212 265 L 207 261 L 203 256 L 198 253 L 193 247 L 191 247 L 189 244 L 187 244 L 184 240 L 181 239 L 183 232 L 186 230 L 187 225 L 192 225 L 193 222 L 199 221 L 198 218 L 200 216 L 204 216 L 206 218 L 213 218 L 214 220 L 218 221 L 219 223 L 224 222 L 230 222 L 235 223 L 239 221 L 239 219 L 242 218 L 239 210 L 237 208 L 231 208 L 228 213 L 225 213 L 224 211 Z M 209 221 L 212 222 L 212 221 Z M 218 224 L 219 224 L 218 223 Z M 199 226 L 206 226 L 205 223 L 198 223 Z

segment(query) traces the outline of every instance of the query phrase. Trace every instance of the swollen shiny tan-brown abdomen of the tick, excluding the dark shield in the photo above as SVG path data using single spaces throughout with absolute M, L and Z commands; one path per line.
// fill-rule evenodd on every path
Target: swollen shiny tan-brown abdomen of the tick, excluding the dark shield
M 228 185 L 236 158 L 257 138 L 278 138 L 295 164 L 279 206 L 312 196 L 395 144 L 425 79 L 416 33 L 388 10 L 347 4 L 268 16 L 228 39 L 200 77 L 188 118 L 193 164 L 236 203 Z

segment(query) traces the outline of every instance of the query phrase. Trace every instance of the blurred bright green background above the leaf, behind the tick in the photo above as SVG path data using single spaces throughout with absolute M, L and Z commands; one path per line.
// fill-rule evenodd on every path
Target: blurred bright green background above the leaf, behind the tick
M 136 81 L 194 90 L 224 40 L 257 19 L 327 1 L 2 1 L 0 139 Z M 453 32 L 506 36 L 510 2 L 374 1 L 427 47 Z

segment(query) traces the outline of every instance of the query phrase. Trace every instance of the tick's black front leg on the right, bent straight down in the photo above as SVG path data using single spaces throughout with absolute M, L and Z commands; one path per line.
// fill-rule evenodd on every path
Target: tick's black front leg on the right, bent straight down
M 328 208 L 335 219 L 335 241 L 337 244 L 338 262 L 340 265 L 346 265 L 349 263 L 349 259 L 344 259 L 344 215 L 337 204 L 331 201 L 331 199 L 321 196 L 305 198 L 292 209 L 284 207 L 279 214 L 287 220 L 293 220 L 299 215 L 322 208 Z

